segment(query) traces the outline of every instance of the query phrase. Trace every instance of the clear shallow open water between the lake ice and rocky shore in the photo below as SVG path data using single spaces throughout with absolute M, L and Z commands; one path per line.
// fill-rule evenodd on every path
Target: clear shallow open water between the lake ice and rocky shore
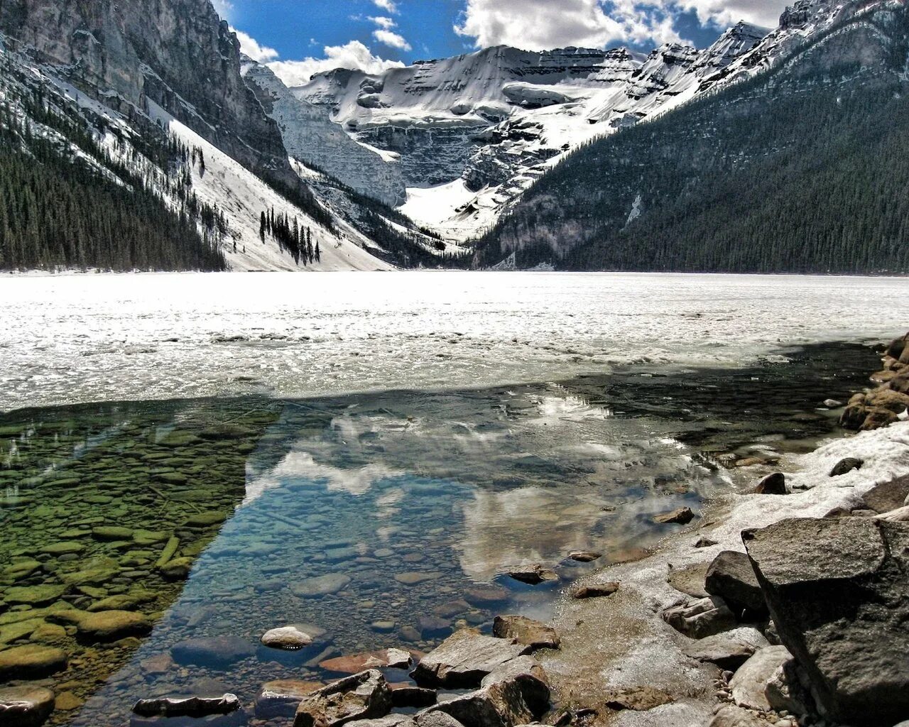
M 597 565 L 569 551 L 640 557 L 676 527 L 654 513 L 697 509 L 761 471 L 723 463 L 772 462 L 830 433 L 835 414 L 818 402 L 859 385 L 875 358 L 852 345 L 784 353 L 791 363 L 479 391 L 5 414 L 0 583 L 64 590 L 0 606 L 0 649 L 47 639 L 59 609 L 135 599 L 130 610 L 155 624 L 141 640 L 55 637 L 70 667 L 49 683 L 85 703 L 53 721 L 105 727 L 126 724 L 141 697 L 235 692 L 249 705 L 266 681 L 336 676 L 320 666 L 331 656 L 425 651 L 461 626 L 488 630 L 496 613 L 545 618 L 559 589 Z M 125 531 L 98 530 L 110 527 Z M 174 537 L 186 580 L 155 567 Z M 522 563 L 561 582 L 505 574 Z M 345 580 L 307 595 L 325 575 Z M 293 654 L 257 646 L 287 623 L 325 634 Z M 172 662 L 175 645 L 219 635 L 246 652 Z

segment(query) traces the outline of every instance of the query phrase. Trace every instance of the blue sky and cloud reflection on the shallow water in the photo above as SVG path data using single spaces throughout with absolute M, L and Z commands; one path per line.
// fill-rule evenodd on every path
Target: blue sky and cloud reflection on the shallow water
M 728 486 L 693 463 L 670 425 L 615 418 L 559 386 L 285 403 L 262 438 L 284 453 L 249 457 L 245 499 L 178 601 L 72 723 L 99 727 L 111 705 L 125 716 L 149 694 L 199 692 L 200 679 L 250 702 L 269 680 L 325 679 L 315 664 L 329 656 L 428 649 L 501 612 L 548 618 L 558 587 L 517 583 L 510 567 L 544 563 L 564 585 L 595 567 L 567 553 L 619 557 L 658 536 L 650 514 Z M 427 580 L 395 578 L 414 573 Z M 323 598 L 299 595 L 326 574 L 351 580 Z M 478 587 L 504 587 L 504 598 L 464 601 Z M 379 632 L 375 622 L 395 625 Z M 315 624 L 325 638 L 294 654 L 259 647 L 229 668 L 141 666 L 188 638 L 255 644 L 288 623 Z

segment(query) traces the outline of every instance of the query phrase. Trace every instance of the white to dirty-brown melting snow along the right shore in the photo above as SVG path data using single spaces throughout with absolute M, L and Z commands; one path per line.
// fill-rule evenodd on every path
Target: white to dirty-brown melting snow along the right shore
M 864 460 L 861 470 L 831 477 L 845 457 Z M 909 423 L 822 444 L 814 452 L 783 463 L 795 492 L 787 495 L 730 494 L 709 506 L 699 527 L 676 533 L 654 555 L 636 563 L 610 566 L 592 582 L 618 581 L 608 600 L 561 604 L 554 625 L 562 636 L 561 652 L 544 660 L 556 687 L 583 694 L 586 682 L 607 688 L 653 686 L 688 698 L 648 712 L 618 713 L 614 725 L 697 727 L 710 720 L 715 700 L 715 668 L 686 657 L 691 640 L 675 632 L 660 614 L 675 603 L 691 600 L 666 583 L 673 569 L 710 563 L 722 551 L 744 553 L 741 533 L 787 518 L 823 517 L 838 507 L 854 507 L 874 485 L 909 473 Z M 704 536 L 717 541 L 694 548 Z M 593 692 L 592 692 L 593 693 Z

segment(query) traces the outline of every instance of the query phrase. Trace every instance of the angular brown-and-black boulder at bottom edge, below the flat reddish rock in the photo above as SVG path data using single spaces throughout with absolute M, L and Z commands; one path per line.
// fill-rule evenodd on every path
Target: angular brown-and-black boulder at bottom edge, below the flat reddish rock
M 371 669 L 307 694 L 296 709 L 294 727 L 341 727 L 385 717 L 391 710 L 391 689 L 382 672 Z

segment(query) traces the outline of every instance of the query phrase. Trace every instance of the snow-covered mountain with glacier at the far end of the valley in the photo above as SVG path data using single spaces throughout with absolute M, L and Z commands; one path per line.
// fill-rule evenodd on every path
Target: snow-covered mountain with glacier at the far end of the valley
M 739 24 L 705 50 L 668 44 L 650 55 L 499 46 L 381 75 L 336 70 L 292 93 L 399 155 L 403 211 L 464 239 L 566 152 L 704 92 L 766 33 Z

